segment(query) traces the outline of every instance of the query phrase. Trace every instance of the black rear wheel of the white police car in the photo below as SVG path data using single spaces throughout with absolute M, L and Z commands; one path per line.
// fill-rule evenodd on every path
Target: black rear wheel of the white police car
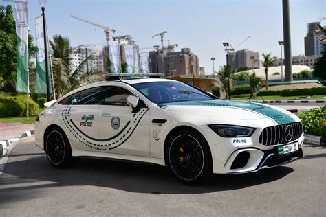
M 45 152 L 55 168 L 65 168 L 72 161 L 72 149 L 61 128 L 52 128 L 46 135 Z

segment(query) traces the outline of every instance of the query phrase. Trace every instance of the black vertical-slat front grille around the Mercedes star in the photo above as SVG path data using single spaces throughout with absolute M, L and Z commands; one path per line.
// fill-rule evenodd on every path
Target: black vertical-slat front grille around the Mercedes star
M 285 129 L 287 126 L 293 128 L 292 138 L 285 139 Z M 265 146 L 274 146 L 278 144 L 287 144 L 301 137 L 303 134 L 303 127 L 301 122 L 294 122 L 290 124 L 280 124 L 276 126 L 269 126 L 263 129 L 259 136 L 259 142 Z

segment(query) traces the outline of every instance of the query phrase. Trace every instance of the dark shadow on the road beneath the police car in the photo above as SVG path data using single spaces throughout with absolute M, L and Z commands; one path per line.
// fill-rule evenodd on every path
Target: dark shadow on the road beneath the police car
M 6 164 L 5 176 L 1 177 L 1 194 L 12 198 L 24 190 L 76 185 L 144 194 L 203 194 L 270 183 L 293 171 L 281 166 L 249 174 L 215 174 L 209 184 L 187 186 L 177 181 L 168 168 L 158 165 L 83 158 L 70 168 L 56 169 L 48 163 L 45 155 L 34 155 L 30 159 Z M 13 179 L 13 176 L 17 178 Z M 25 185 L 21 185 L 24 182 Z

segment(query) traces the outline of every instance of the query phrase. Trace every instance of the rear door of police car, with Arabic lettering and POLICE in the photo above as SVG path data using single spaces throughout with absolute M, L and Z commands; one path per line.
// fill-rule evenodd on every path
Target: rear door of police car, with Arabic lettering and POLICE
M 100 152 L 98 109 L 101 87 L 75 93 L 63 111 L 63 123 L 75 148 Z

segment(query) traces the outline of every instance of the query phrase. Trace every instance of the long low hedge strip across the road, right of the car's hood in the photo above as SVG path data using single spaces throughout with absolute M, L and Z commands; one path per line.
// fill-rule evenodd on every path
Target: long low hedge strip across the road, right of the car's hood
M 284 90 L 267 90 L 259 91 L 257 96 L 265 95 L 281 95 L 281 96 L 293 96 L 293 95 L 326 95 L 326 87 L 312 87 L 305 89 L 284 89 Z

